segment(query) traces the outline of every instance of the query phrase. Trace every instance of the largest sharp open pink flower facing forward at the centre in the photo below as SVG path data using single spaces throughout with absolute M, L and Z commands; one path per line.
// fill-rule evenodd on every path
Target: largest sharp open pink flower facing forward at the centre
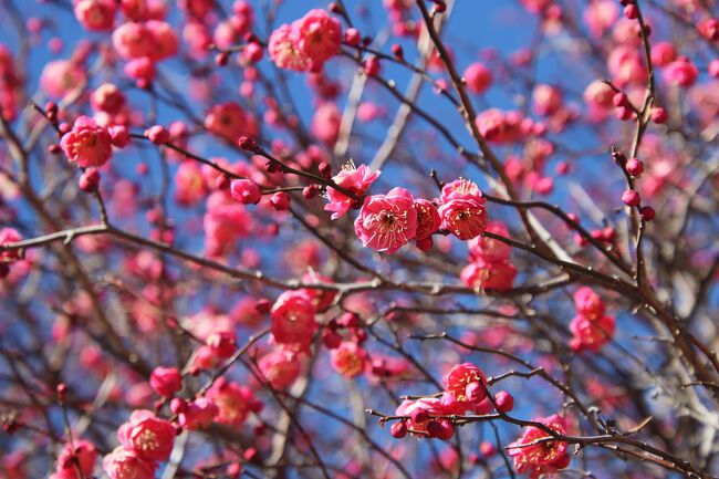
M 388 253 L 397 251 L 417 232 L 414 198 L 404 188 L 366 197 L 354 229 L 365 248 Z

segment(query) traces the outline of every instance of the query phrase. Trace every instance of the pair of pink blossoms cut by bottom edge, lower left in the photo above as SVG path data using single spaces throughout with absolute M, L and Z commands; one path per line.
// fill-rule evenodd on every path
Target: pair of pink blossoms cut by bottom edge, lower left
M 158 462 L 169 459 L 175 426 L 149 410 L 135 410 L 117 430 L 118 446 L 103 459 L 111 479 L 152 479 Z

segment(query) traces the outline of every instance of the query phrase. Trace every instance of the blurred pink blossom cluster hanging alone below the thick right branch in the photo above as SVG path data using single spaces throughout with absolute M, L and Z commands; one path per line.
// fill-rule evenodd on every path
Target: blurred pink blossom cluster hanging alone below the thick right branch
M 604 315 L 606 306 L 591 288 L 580 288 L 574 292 L 576 316 L 570 323 L 572 339 L 570 347 L 574 351 L 600 351 L 612 337 L 616 329 L 614 316 Z

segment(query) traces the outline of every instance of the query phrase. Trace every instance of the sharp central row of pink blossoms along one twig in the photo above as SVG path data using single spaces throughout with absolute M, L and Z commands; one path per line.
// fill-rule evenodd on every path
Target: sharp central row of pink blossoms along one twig
M 362 197 L 378 176 L 379 171 L 371 173 L 362 165 L 345 169 L 333 179 Z M 333 211 L 333 219 L 357 206 L 352 197 L 332 187 L 327 188 L 327 198 L 325 210 Z M 364 197 L 354 229 L 365 248 L 393 253 L 416 240 L 417 247 L 426 251 L 431 248 L 431 236 L 440 228 L 463 241 L 480 236 L 487 226 L 486 201 L 475 183 L 461 178 L 445 185 L 435 201 L 414 198 L 404 188 L 393 188 L 385 195 Z

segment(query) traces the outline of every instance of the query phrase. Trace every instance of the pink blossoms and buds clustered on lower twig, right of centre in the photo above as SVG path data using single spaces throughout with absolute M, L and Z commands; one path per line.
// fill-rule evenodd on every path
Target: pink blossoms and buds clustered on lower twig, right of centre
M 419 437 L 450 439 L 455 425 L 448 416 L 469 412 L 478 415 L 498 409 L 508 413 L 514 407 L 513 397 L 500 391 L 490 399 L 484 373 L 471 363 L 455 365 L 442 378 L 441 395 L 404 400 L 395 412 L 402 419 L 392 425 L 392 435 L 403 438 L 410 433 Z

